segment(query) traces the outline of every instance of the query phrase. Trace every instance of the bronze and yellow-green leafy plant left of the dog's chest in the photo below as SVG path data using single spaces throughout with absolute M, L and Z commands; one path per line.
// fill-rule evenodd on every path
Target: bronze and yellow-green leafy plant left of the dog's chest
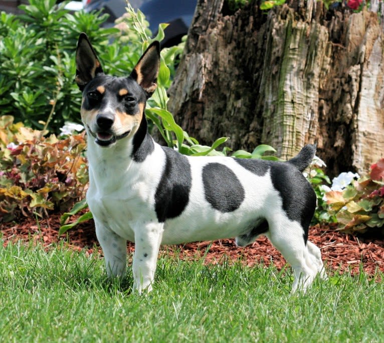
M 0 221 L 63 211 L 85 195 L 84 136 L 44 138 L 43 133 L 0 117 Z

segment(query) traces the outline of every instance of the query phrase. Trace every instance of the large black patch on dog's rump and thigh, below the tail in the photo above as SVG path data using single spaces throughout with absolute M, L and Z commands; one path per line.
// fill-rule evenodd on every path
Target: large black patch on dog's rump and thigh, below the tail
M 301 172 L 288 163 L 272 164 L 271 180 L 273 187 L 280 193 L 288 218 L 301 224 L 306 242 L 308 227 L 316 208 L 313 188 Z

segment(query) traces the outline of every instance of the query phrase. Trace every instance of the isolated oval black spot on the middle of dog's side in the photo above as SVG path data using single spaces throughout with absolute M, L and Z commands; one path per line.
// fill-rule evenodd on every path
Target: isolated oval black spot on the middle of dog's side
M 203 168 L 206 200 L 220 212 L 232 212 L 240 207 L 245 191 L 236 174 L 221 163 L 208 163 Z

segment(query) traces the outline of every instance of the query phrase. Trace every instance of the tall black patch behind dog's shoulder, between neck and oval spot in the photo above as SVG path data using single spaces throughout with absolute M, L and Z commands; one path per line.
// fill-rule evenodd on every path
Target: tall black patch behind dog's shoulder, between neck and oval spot
M 155 211 L 159 222 L 181 214 L 189 201 L 191 171 L 188 159 L 167 147 L 165 166 L 155 194 Z

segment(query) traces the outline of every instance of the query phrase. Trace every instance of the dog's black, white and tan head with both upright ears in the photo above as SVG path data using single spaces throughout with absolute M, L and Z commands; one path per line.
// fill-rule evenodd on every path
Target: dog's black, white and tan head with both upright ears
M 153 42 L 128 77 L 105 75 L 87 35 L 76 50 L 76 83 L 83 92 L 81 119 L 88 135 L 107 147 L 133 137 L 144 116 L 147 99 L 157 87 L 160 45 Z

